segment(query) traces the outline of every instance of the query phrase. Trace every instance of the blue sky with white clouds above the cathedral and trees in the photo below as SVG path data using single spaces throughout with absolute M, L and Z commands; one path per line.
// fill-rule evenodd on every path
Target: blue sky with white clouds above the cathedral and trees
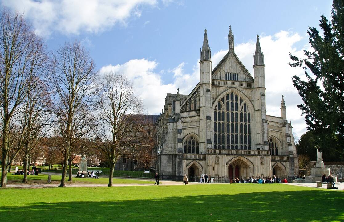
M 267 114 L 280 116 L 281 96 L 295 136 L 306 131 L 292 84 L 301 68 L 291 68 L 289 53 L 311 50 L 308 27 L 319 28 L 332 1 L 201 0 L 0 0 L 18 10 L 49 50 L 79 40 L 100 72 L 124 73 L 134 82 L 148 114 L 158 115 L 167 93 L 189 94 L 199 82 L 199 57 L 207 29 L 214 68 L 228 51 L 232 26 L 235 53 L 253 76 L 256 35 L 264 53 Z

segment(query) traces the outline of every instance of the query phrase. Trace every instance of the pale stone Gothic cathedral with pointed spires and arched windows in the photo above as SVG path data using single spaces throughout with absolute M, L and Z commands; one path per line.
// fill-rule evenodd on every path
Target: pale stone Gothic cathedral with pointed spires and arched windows
M 154 168 L 164 179 L 203 173 L 223 178 L 298 175 L 283 96 L 281 116 L 266 113 L 264 55 L 258 35 L 253 68 L 252 77 L 235 54 L 231 28 L 228 52 L 212 68 L 204 31 L 200 82 L 189 95 L 179 89 L 167 94 L 157 121 Z

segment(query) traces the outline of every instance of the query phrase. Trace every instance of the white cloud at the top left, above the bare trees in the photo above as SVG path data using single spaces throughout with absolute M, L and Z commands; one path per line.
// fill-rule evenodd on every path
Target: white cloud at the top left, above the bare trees
M 156 6 L 157 0 L 2 0 L 2 5 L 18 9 L 37 33 L 49 36 L 53 31 L 98 33 L 116 23 L 126 25 L 131 16 L 141 16 L 140 6 Z

